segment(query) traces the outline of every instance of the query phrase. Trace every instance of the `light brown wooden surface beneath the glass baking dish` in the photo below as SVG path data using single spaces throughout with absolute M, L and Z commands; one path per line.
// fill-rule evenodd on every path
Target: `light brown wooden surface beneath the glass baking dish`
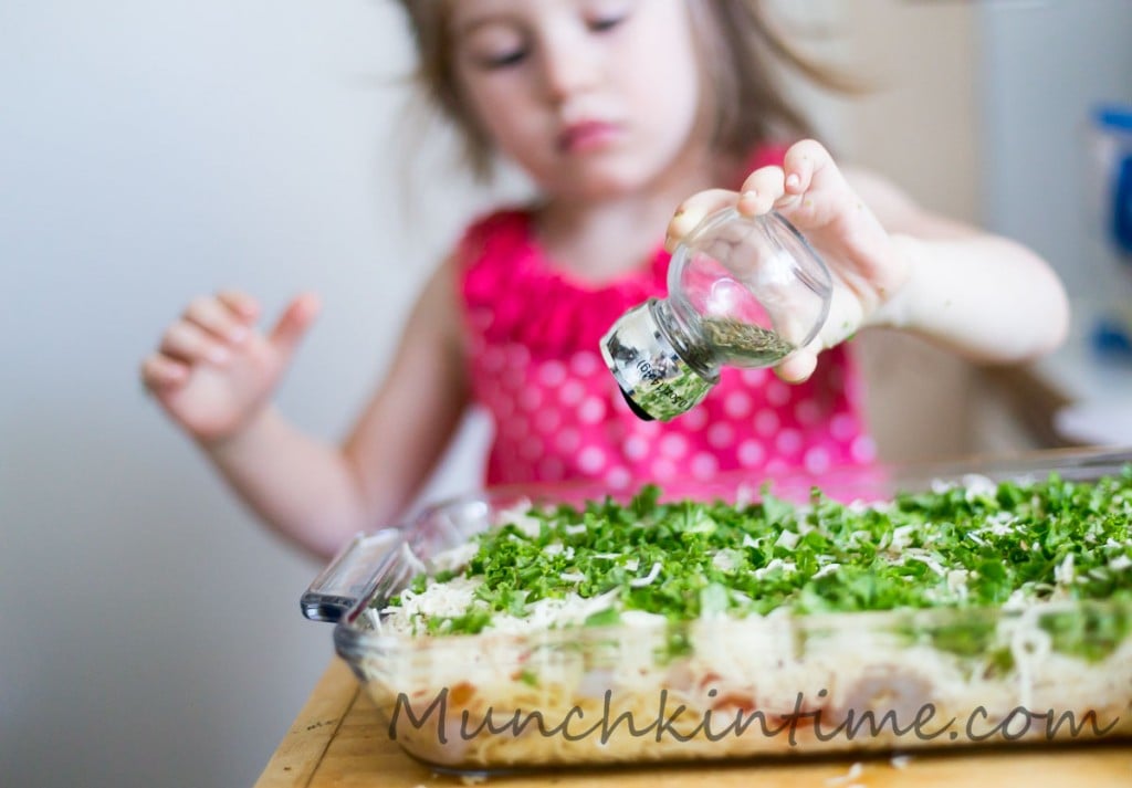
M 1020 751 L 968 751 L 915 755 L 900 768 L 887 759 L 799 763 L 658 764 L 600 771 L 547 771 L 491 778 L 499 788 L 1132 788 L 1132 743 L 1056 745 Z M 389 740 L 376 706 L 360 692 L 350 668 L 335 659 L 291 730 L 267 763 L 256 788 L 388 786 L 445 788 L 458 778 L 432 774 Z

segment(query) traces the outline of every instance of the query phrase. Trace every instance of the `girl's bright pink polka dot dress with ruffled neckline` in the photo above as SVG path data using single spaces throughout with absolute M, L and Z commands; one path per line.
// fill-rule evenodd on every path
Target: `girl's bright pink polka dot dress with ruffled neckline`
M 724 368 L 704 402 L 672 421 L 629 411 L 599 341 L 626 309 L 666 296 L 659 242 L 646 267 L 591 285 L 547 258 L 529 213 L 501 211 L 473 224 L 458 254 L 472 394 L 496 429 L 489 486 L 597 480 L 621 489 L 874 460 L 846 345 L 824 352 L 801 385 Z

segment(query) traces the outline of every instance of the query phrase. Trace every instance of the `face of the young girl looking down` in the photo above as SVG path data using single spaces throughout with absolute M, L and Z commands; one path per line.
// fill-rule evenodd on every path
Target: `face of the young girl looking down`
M 456 0 L 456 77 L 543 189 L 646 187 L 689 149 L 700 66 L 684 0 Z

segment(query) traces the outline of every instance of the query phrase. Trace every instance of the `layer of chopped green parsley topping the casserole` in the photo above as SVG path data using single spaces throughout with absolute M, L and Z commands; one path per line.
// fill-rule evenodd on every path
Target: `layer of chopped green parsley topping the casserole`
M 1132 602 L 1132 465 L 1089 482 L 1056 474 L 984 482 L 880 505 L 847 505 L 815 488 L 805 506 L 765 490 L 744 506 L 662 502 L 649 486 L 627 504 L 531 508 L 475 537 L 478 550 L 462 568 L 421 575 L 410 588 L 477 580 L 464 613 L 420 619 L 429 633 L 469 634 L 496 616 L 523 618 L 540 600 L 567 597 L 609 599 L 586 626 L 616 624 L 633 610 L 678 624 L 783 607 L 805 615 Z M 1115 645 L 1132 620 L 1066 616 L 1044 626 L 1066 648 Z M 970 627 L 933 634 L 960 653 L 985 644 Z

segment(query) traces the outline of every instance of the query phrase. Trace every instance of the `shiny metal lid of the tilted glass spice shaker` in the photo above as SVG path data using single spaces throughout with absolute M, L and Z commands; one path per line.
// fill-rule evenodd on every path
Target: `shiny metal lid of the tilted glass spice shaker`
M 714 385 L 676 352 L 653 314 L 655 299 L 625 312 L 601 337 L 601 356 L 633 412 L 669 421 L 692 410 Z

